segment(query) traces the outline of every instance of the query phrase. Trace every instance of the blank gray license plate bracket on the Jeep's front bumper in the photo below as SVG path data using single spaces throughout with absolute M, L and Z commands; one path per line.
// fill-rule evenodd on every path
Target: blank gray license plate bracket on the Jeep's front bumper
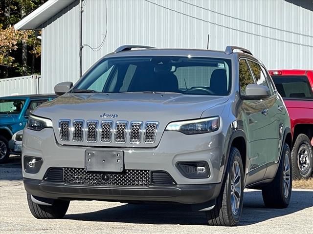
M 85 170 L 89 172 L 123 172 L 124 152 L 86 150 Z

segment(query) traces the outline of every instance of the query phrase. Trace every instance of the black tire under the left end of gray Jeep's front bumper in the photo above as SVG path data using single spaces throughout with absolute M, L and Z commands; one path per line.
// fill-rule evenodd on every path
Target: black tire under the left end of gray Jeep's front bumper
M 54 200 L 52 206 L 38 205 L 30 194 L 27 194 L 27 202 L 31 214 L 39 219 L 63 218 L 69 206 L 69 201 L 64 200 Z

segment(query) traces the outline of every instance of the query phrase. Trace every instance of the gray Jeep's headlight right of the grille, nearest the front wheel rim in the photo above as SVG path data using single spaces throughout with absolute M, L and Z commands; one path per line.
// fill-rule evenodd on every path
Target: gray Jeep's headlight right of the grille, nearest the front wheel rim
M 191 135 L 215 132 L 219 128 L 220 117 L 210 117 L 169 123 L 165 131 L 177 131 Z

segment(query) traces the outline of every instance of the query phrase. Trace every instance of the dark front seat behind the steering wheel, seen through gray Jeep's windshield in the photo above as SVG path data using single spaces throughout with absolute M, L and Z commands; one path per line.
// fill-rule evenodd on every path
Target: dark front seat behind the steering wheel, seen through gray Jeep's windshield
M 215 69 L 212 72 L 210 90 L 216 95 L 227 95 L 227 75 L 225 69 Z

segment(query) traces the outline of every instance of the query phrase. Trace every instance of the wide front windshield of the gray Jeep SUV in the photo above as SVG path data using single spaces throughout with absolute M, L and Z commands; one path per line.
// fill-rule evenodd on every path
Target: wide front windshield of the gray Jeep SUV
M 230 91 L 230 67 L 229 59 L 216 58 L 109 58 L 92 68 L 72 92 L 174 92 L 225 96 Z

